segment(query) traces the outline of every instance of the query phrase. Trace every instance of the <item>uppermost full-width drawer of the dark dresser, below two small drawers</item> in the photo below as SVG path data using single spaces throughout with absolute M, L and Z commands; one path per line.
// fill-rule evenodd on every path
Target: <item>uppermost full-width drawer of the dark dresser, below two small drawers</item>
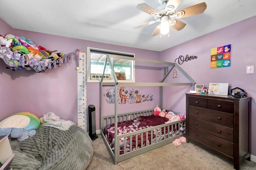
M 213 123 L 218 123 L 230 128 L 233 128 L 234 125 L 234 115 L 231 113 L 224 113 L 220 111 L 205 109 L 202 107 L 189 106 L 188 115 Z

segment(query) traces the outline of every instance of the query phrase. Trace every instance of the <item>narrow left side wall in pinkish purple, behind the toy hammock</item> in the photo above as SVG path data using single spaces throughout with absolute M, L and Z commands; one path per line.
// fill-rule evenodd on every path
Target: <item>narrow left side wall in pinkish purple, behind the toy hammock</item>
M 12 28 L 0 18 L 0 34 L 12 33 Z M 0 59 L 0 108 L 1 117 L 6 117 L 13 113 L 13 81 L 12 70 L 6 69 L 6 64 Z

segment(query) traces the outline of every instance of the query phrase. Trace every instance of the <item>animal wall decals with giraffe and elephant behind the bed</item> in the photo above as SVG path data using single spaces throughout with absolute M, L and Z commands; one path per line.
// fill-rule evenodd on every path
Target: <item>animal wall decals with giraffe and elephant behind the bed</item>
M 115 101 L 115 89 L 109 88 L 106 93 L 103 94 L 106 99 L 106 103 L 114 104 Z M 142 102 L 149 102 L 154 100 L 152 94 L 142 94 L 137 89 L 130 89 L 126 87 L 118 87 L 118 104 L 137 104 Z

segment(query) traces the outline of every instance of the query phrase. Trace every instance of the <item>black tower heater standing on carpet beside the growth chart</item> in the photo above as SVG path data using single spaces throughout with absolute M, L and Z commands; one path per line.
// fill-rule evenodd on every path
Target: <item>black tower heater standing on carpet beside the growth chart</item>
M 95 116 L 95 106 L 88 105 L 88 117 L 89 117 L 89 136 L 92 140 L 98 138 L 96 135 L 96 116 Z

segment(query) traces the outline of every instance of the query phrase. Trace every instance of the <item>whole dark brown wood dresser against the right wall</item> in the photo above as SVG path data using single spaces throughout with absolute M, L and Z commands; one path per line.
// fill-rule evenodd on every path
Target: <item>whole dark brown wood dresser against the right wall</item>
M 251 97 L 186 94 L 186 140 L 234 163 L 250 158 Z

